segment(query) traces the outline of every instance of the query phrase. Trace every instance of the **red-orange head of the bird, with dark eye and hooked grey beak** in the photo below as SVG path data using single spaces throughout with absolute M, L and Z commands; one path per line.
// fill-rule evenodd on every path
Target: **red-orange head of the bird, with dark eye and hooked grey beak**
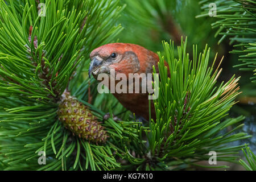
M 100 73 L 115 74 L 145 73 L 152 69 L 151 62 L 158 56 L 141 46 L 126 43 L 112 43 L 98 47 L 90 53 L 89 76 L 97 79 Z M 151 61 L 152 60 L 152 61 Z

